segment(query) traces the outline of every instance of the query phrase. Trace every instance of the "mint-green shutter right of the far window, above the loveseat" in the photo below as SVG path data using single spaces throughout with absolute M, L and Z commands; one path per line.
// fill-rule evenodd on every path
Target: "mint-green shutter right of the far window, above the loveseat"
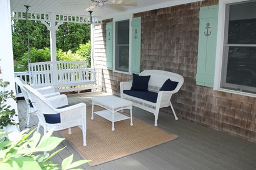
M 132 18 L 131 73 L 141 73 L 141 17 Z

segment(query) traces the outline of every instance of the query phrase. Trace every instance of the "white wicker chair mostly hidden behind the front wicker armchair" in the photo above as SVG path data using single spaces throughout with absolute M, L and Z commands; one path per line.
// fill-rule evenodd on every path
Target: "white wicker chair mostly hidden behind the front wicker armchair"
M 26 125 L 28 126 L 30 116 L 31 116 L 31 114 L 35 113 L 35 109 L 34 109 L 34 106 L 32 105 L 32 103 L 30 102 L 30 98 L 28 97 L 26 90 L 23 87 L 23 85 L 26 84 L 26 82 L 23 79 L 21 79 L 21 77 L 15 77 L 15 83 L 18 84 L 19 88 L 21 89 L 21 93 L 24 94 L 24 98 L 25 98 L 25 101 L 27 104 Z M 36 90 L 39 91 L 39 93 L 43 94 L 44 97 L 47 97 L 47 98 L 60 95 L 59 92 L 55 92 L 54 87 L 52 87 L 52 86 L 42 87 L 42 88 L 39 88 Z

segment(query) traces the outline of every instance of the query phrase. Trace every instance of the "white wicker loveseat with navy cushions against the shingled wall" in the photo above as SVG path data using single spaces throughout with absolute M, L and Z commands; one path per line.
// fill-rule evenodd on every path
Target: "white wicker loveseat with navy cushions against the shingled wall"
M 132 105 L 135 107 L 153 113 L 155 115 L 155 126 L 157 126 L 159 109 L 163 107 L 171 106 L 175 120 L 178 120 L 171 104 L 171 97 L 172 94 L 179 91 L 184 82 L 184 78 L 177 73 L 166 72 L 163 70 L 144 70 L 136 76 L 137 80 L 135 79 L 135 75 L 136 74 L 133 74 L 133 81 L 120 83 L 121 98 L 132 101 Z M 147 90 L 133 88 L 135 86 L 135 80 L 138 81 L 138 79 L 144 79 L 144 77 L 149 77 L 149 75 L 150 78 Z M 138 86 L 141 86 L 141 84 L 144 84 L 145 82 L 137 83 Z

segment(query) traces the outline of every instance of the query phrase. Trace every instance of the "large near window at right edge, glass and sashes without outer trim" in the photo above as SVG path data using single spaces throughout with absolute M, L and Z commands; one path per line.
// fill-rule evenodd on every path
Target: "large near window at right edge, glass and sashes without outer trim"
M 256 1 L 225 8 L 221 88 L 256 93 Z

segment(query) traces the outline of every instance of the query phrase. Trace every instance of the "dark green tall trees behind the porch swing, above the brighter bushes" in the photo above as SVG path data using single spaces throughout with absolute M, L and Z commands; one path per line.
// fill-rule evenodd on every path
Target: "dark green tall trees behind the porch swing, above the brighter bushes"
M 26 24 L 27 21 L 25 20 L 15 20 L 12 24 L 12 44 L 15 61 L 24 60 L 24 53 L 28 52 Z M 46 26 L 40 21 L 28 21 L 28 28 L 31 53 L 33 48 L 42 49 L 43 51 L 44 49 L 49 49 L 49 30 L 47 30 Z M 56 31 L 56 48 L 62 49 L 63 52 L 71 50 L 72 53 L 75 53 L 79 49 L 79 45 L 89 42 L 90 35 L 89 24 L 63 23 Z

